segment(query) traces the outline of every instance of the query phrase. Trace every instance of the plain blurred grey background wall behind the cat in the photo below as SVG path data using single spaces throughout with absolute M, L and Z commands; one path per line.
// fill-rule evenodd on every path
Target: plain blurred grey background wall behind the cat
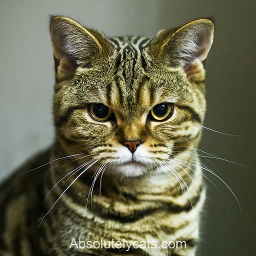
M 0 1 L 0 178 L 53 139 L 53 57 L 48 15 L 63 14 L 106 35 L 153 35 L 203 16 L 216 19 L 207 61 L 203 160 L 232 188 L 208 177 L 199 255 L 255 255 L 255 5 L 233 0 Z M 254 71 L 254 73 L 252 73 Z M 222 194 L 221 194 L 222 192 Z

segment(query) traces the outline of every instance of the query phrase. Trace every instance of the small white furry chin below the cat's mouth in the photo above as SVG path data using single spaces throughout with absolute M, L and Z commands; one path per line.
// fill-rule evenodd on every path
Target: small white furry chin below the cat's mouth
M 126 177 L 137 177 L 145 173 L 147 170 L 145 165 L 133 162 L 116 165 L 114 169 Z

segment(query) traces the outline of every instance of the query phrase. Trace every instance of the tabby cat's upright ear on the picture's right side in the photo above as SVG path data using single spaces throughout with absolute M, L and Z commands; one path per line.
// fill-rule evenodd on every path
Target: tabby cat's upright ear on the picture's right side
M 153 39 L 159 44 L 159 57 L 169 66 L 182 66 L 188 78 L 205 76 L 204 60 L 213 41 L 210 19 L 197 19 L 175 30 L 162 30 Z

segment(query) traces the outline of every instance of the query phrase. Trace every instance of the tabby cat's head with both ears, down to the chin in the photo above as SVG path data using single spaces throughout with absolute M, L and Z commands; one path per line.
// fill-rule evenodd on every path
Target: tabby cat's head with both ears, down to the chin
M 52 17 L 54 121 L 66 153 L 137 176 L 196 147 L 213 29 L 211 20 L 197 19 L 153 38 L 107 38 Z

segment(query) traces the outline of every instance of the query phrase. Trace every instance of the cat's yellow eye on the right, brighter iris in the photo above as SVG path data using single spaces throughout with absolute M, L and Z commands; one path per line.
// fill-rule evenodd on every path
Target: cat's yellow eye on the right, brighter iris
M 160 103 L 155 105 L 150 111 L 151 119 L 155 121 L 164 121 L 173 113 L 172 103 Z

